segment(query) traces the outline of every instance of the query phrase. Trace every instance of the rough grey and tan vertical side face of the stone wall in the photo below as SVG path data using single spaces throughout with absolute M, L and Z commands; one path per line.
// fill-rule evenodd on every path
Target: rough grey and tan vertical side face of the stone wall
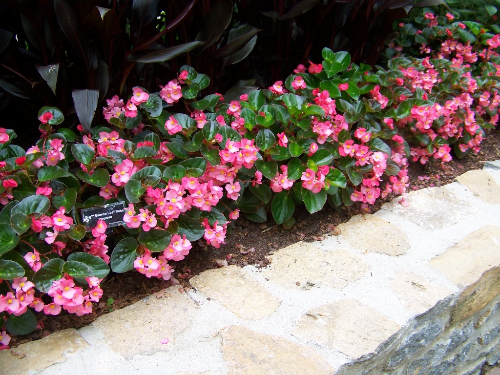
M 485 362 L 499 359 L 500 267 L 495 267 L 336 374 L 476 375 Z

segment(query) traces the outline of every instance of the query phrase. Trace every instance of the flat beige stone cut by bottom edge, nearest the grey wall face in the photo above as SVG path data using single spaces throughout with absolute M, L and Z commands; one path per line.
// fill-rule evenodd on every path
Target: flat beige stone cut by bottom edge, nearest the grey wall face
M 227 375 L 330 375 L 335 371 L 313 349 L 281 337 L 234 325 L 220 334 Z

